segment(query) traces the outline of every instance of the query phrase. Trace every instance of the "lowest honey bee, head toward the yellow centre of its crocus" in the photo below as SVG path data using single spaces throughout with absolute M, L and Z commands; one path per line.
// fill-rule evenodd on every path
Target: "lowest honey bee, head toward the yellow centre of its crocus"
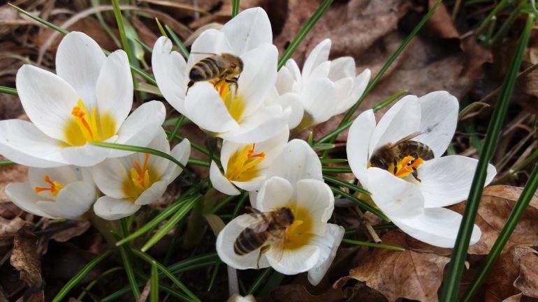
M 251 208 L 252 209 L 252 208 Z M 245 226 L 233 243 L 233 252 L 236 255 L 247 255 L 260 248 L 258 254 L 258 268 L 263 253 L 271 247 L 277 248 L 282 257 L 286 229 L 293 224 L 295 218 L 291 209 L 282 207 L 275 211 L 260 212 L 252 209 L 253 213 L 241 216 L 238 224 Z

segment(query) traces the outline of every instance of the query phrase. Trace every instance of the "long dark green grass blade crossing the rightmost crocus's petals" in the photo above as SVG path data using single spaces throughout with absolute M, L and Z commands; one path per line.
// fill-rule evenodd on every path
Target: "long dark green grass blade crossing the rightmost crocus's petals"
M 514 59 L 511 61 L 507 77 L 502 84 L 502 90 L 499 99 L 497 100 L 497 105 L 495 105 L 495 110 L 493 110 L 493 115 L 491 116 L 488 131 L 486 133 L 486 139 L 484 139 L 484 150 L 482 150 L 477 165 L 477 171 L 474 173 L 471 190 L 469 192 L 469 197 L 467 198 L 467 206 L 465 206 L 465 213 L 463 213 L 463 219 L 456 239 L 456 246 L 452 251 L 449 269 L 444 278 L 444 286 L 439 301 L 452 302 L 457 301 L 458 299 L 461 275 L 463 274 L 463 267 L 465 266 L 465 259 L 467 258 L 467 248 L 469 248 L 474 220 L 477 217 L 481 195 L 484 190 L 488 163 L 493 157 L 493 152 L 497 146 L 497 139 L 499 138 L 500 130 L 504 122 L 504 116 L 506 116 L 511 93 L 514 91 L 514 84 L 516 82 L 518 70 L 521 67 L 523 52 L 525 52 L 525 47 L 530 37 L 533 20 L 534 18 L 530 15 L 525 23 L 525 29 L 523 29 Z

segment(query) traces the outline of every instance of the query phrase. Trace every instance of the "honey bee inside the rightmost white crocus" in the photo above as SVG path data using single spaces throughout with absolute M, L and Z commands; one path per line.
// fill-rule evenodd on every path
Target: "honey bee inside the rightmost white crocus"
M 412 156 L 415 158 L 415 160 L 416 158 L 422 158 L 423 160 L 432 159 L 434 157 L 433 151 L 429 146 L 421 142 L 411 140 L 421 134 L 421 132 L 412 133 L 411 135 L 407 135 L 407 137 L 400 139 L 398 142 L 393 144 L 388 143 L 381 146 L 370 157 L 370 165 L 372 167 L 388 170 L 391 164 L 393 164 L 394 171 L 392 173 L 396 174 L 396 165 L 398 165 L 398 162 L 405 158 L 405 156 Z M 409 163 L 409 165 L 412 163 L 413 162 Z M 416 181 L 421 182 L 419 179 L 419 172 L 416 170 L 416 168 L 413 168 L 412 175 Z

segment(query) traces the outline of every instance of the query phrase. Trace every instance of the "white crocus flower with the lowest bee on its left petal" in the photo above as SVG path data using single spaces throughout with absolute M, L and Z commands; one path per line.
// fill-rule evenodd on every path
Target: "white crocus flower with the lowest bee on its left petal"
M 234 251 L 240 233 L 249 227 L 254 214 L 231 220 L 217 238 L 222 261 L 235 269 L 272 266 L 286 275 L 308 272 L 317 285 L 325 275 L 344 236 L 344 229 L 327 223 L 334 209 L 334 196 L 321 181 L 321 163 L 304 141 L 293 139 L 275 158 L 273 176 L 263 183 L 254 208 L 270 212 L 285 207 L 293 213 L 293 223 L 282 235 L 283 244 L 272 243 L 266 252 L 256 248 L 245 255 Z M 269 227 L 270 228 L 270 227 Z M 258 258 L 260 257 L 259 261 Z

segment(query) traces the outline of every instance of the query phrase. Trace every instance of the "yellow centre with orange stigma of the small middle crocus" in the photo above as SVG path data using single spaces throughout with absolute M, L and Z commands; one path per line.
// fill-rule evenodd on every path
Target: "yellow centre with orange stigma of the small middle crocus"
M 254 153 L 256 144 L 247 144 L 241 151 L 235 152 L 228 160 L 226 179 L 229 181 L 249 181 L 258 176 L 258 165 L 266 159 L 266 153 Z

